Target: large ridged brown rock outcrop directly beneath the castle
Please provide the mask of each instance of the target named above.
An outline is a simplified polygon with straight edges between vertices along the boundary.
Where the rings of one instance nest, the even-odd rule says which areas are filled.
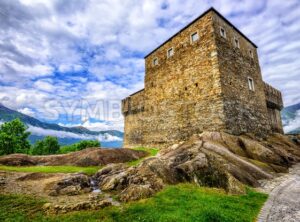
[[[299,160],[299,145],[280,134],[258,140],[251,135],[204,132],[161,150],[136,167],[109,165],[94,180],[101,190],[117,192],[121,201],[146,198],[166,184],[182,182],[240,194],[245,184],[259,186],[259,180],[285,172]]]

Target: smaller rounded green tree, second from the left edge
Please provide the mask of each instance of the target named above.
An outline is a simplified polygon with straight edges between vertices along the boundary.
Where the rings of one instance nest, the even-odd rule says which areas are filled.
[[[43,140],[38,140],[32,149],[33,155],[49,155],[56,154],[60,149],[60,145],[56,137],[47,136]]]

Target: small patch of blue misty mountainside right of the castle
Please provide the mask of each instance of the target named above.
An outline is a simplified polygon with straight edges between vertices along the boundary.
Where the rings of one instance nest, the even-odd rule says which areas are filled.
[[[300,133],[300,103],[285,107],[281,117],[285,133]]]

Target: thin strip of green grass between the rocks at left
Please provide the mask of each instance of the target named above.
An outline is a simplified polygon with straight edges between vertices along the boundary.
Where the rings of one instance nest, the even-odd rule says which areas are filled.
[[[14,172],[33,172],[33,173],[78,173],[82,172],[88,175],[93,175],[101,169],[101,166],[77,167],[77,166],[3,166],[0,165],[0,170]]]

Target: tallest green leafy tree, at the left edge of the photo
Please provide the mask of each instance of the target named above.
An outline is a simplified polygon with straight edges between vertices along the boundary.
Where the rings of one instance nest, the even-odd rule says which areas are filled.
[[[30,143],[26,126],[20,119],[6,122],[0,126],[0,155],[28,153]]]

